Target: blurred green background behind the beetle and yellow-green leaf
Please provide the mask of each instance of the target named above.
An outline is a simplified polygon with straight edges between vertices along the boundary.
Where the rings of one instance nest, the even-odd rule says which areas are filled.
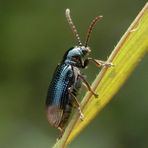
[[[0,148],[51,148],[58,131],[45,116],[55,66],[75,39],[64,13],[85,38],[90,21],[92,57],[105,60],[146,0],[0,0]],[[126,64],[126,63],[125,63]],[[70,148],[148,148],[148,58]],[[99,70],[84,71],[91,82]],[[80,97],[79,97],[80,98]]]

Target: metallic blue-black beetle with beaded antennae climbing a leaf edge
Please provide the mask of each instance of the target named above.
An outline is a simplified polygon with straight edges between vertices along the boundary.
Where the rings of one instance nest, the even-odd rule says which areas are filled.
[[[80,119],[83,120],[84,115],[81,111],[80,104],[77,101],[77,95],[81,85],[84,84],[88,90],[97,97],[98,95],[91,89],[80,69],[86,68],[89,61],[94,62],[98,66],[112,66],[111,63],[92,59],[88,57],[91,52],[87,46],[90,34],[96,22],[102,18],[97,16],[90,24],[86,36],[84,46],[80,41],[79,34],[71,19],[70,10],[66,9],[67,21],[78,41],[78,46],[70,48],[63,56],[60,64],[58,64],[51,83],[48,88],[46,99],[47,119],[49,123],[58,128],[61,132],[64,131],[73,107],[78,109]]]

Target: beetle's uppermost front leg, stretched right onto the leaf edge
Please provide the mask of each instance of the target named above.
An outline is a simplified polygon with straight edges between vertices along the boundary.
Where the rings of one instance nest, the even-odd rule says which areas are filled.
[[[111,62],[101,61],[101,60],[92,59],[92,58],[88,58],[88,60],[94,62],[97,66],[106,66],[106,67],[114,66]]]

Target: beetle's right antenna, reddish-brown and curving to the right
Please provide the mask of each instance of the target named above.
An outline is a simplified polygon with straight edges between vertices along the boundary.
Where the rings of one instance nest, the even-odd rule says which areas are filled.
[[[97,16],[96,18],[94,18],[88,28],[88,31],[87,31],[87,35],[86,35],[86,40],[85,40],[85,44],[84,46],[87,47],[88,45],[88,42],[89,42],[89,39],[90,39],[90,34],[94,28],[94,26],[96,25],[97,21],[99,21],[103,16]]]

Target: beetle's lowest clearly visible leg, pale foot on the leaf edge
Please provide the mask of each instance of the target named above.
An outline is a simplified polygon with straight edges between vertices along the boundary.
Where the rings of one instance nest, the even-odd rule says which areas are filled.
[[[68,92],[69,92],[69,94],[72,96],[72,101],[74,102],[75,106],[76,106],[77,109],[78,109],[80,119],[83,120],[84,115],[83,115],[83,113],[82,113],[82,111],[81,111],[80,104],[79,104],[79,102],[78,102],[76,96],[71,92],[71,88],[68,89]]]

